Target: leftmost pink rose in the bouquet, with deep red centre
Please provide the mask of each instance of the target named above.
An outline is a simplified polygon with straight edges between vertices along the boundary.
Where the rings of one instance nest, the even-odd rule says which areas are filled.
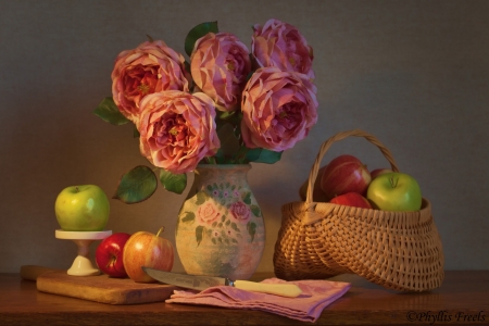
[[[125,117],[137,122],[141,99],[162,90],[188,91],[185,59],[163,41],[121,52],[112,71],[112,96]]]

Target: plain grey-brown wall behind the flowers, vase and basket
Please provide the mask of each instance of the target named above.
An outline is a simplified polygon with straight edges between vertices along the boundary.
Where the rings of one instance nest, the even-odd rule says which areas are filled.
[[[115,57],[147,39],[184,52],[195,25],[218,21],[250,45],[251,26],[275,17],[314,48],[319,121],[274,165],[253,164],[249,183],[265,216],[273,271],[280,206],[323,141],[361,128],[377,136],[432,203],[447,269],[489,269],[489,1],[0,1],[0,272],[23,264],[67,268],[73,242],[54,238],[54,200],[66,186],[109,196],[138,164],[131,128],[91,111],[111,95]],[[335,143],[372,168],[387,165],[363,139]],[[158,231],[174,242],[185,196],[162,187],[148,201],[111,200],[108,228]],[[98,243],[91,247],[92,252]],[[183,272],[176,259],[174,271]]]

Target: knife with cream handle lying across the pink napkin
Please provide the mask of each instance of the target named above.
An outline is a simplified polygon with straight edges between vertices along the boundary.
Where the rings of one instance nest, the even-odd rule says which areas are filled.
[[[216,276],[164,272],[146,266],[142,266],[141,268],[146,274],[161,283],[192,290],[205,290],[206,288],[215,286],[231,286],[241,290],[269,293],[288,298],[296,298],[302,293],[302,290],[293,284],[264,284],[250,280],[230,280],[228,278]]]

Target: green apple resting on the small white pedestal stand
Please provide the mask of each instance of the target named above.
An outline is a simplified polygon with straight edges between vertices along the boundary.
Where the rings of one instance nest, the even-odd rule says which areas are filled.
[[[100,231],[109,221],[110,203],[98,186],[72,186],[58,195],[54,212],[63,230]]]

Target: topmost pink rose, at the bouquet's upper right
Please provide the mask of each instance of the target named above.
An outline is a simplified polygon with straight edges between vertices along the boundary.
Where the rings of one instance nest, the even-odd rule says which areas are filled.
[[[251,52],[260,66],[277,66],[314,78],[313,50],[299,30],[287,23],[269,20],[253,26]]]

